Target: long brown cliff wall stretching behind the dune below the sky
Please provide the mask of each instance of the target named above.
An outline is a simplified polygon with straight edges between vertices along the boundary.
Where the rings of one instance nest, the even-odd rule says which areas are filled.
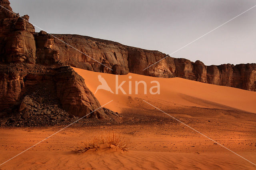
[[[44,39],[45,37],[48,39]],[[60,40],[94,58],[98,62],[108,66],[112,70],[102,66],[88,56],[78,52],[74,48],[64,44],[60,40],[42,33],[35,34],[38,42],[49,44],[64,64],[112,74],[127,74],[132,72],[155,77],[180,77],[199,82],[230,86],[244,90],[256,91],[256,64],[222,64],[220,66],[205,66],[203,62],[191,62],[184,58],[167,57],[162,52],[144,50],[125,46],[117,42],[101,40],[88,36],[54,34]],[[44,39],[44,40],[43,40]],[[37,51],[44,48],[38,46]],[[147,68],[151,64],[153,66]],[[143,71],[144,68],[147,68]]]

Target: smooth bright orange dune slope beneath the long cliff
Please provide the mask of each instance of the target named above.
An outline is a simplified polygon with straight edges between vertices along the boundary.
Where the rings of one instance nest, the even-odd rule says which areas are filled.
[[[100,74],[115,93],[116,75],[91,72],[79,68],[73,69],[85,79],[86,85],[92,92],[95,92],[97,86],[101,84],[98,81],[98,75]],[[144,86],[142,84],[139,84],[138,94],[135,94],[135,81],[141,80],[147,84],[146,95],[144,95]],[[95,96],[99,100],[100,104],[105,104],[110,100],[114,100],[106,107],[114,111],[120,111],[124,107],[132,107],[131,104],[127,103],[128,97],[132,97],[162,102],[175,108],[177,106],[196,106],[228,110],[243,110],[246,112],[256,113],[256,92],[226,86],[205,84],[182,78],[155,78],[132,73],[119,75],[118,84],[122,81],[126,81],[122,86],[126,94],[123,94],[120,90],[118,91],[118,94],[112,94],[106,90],[98,90]],[[132,84],[131,94],[128,94],[129,81],[131,81]],[[152,95],[149,93],[150,87],[156,85],[155,83],[151,84],[151,81],[158,81],[160,83],[160,94]]]

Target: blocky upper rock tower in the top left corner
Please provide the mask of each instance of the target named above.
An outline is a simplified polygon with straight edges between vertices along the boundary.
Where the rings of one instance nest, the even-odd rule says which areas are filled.
[[[12,11],[8,0],[2,0],[0,4]],[[29,16],[24,15],[20,18],[8,10],[0,8],[0,60],[35,63],[35,29],[26,21]]]

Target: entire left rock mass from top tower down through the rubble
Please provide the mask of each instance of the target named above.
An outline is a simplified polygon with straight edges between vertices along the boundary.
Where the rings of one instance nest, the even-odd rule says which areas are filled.
[[[8,0],[0,4],[12,11]],[[50,42],[36,42],[29,17],[6,9],[0,7],[1,124],[59,124],[70,115],[83,117],[96,109],[86,117],[109,120],[110,112],[100,108],[84,79],[60,62]]]

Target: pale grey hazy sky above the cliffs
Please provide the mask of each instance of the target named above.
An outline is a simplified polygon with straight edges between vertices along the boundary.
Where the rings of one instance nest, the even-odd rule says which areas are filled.
[[[255,0],[10,0],[49,33],[80,34],[166,54],[256,5]],[[256,7],[176,52],[206,65],[256,63]],[[36,31],[40,31],[36,29]]]

